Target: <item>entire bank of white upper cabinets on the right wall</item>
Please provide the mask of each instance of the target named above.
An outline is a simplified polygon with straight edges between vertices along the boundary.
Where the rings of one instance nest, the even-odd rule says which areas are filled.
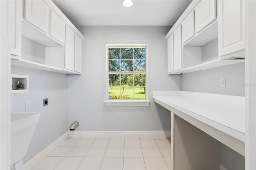
[[[168,73],[190,73],[244,62],[237,59],[244,58],[245,51],[244,3],[193,0],[165,36]]]

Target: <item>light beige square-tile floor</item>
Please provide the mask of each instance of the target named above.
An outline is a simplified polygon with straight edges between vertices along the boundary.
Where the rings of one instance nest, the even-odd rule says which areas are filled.
[[[69,137],[33,170],[170,170],[170,138]]]

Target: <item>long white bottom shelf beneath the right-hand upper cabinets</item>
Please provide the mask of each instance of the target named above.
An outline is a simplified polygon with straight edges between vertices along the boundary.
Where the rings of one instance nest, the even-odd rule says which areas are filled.
[[[177,71],[177,72],[171,72],[170,74],[184,74],[184,73],[190,73],[194,71],[200,71],[200,70],[206,70],[206,69],[212,69],[216,67],[222,67],[225,65],[231,65],[236,63],[242,63],[244,62],[244,59],[214,59],[212,61],[208,61],[199,65],[195,65],[192,67],[185,68],[183,70]]]

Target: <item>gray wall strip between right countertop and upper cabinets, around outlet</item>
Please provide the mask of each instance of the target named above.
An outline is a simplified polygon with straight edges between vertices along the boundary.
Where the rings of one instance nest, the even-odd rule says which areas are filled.
[[[182,75],[182,90],[223,95],[245,95],[245,63],[227,65]],[[226,87],[220,87],[220,77],[226,77]]]

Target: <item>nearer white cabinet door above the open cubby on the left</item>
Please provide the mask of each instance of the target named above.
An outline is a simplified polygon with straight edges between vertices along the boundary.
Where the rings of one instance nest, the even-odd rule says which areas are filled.
[[[49,34],[50,8],[43,0],[25,0],[24,19]]]

